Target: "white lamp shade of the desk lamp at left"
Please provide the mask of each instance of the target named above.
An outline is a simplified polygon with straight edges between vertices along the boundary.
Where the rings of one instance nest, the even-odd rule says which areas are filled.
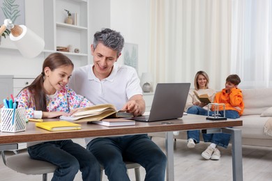
[[[27,58],[34,58],[38,56],[45,47],[45,41],[33,33],[27,26],[20,25],[22,28],[22,34],[20,36],[13,36],[10,34],[10,40],[12,40],[16,47],[19,49],[22,56]]]

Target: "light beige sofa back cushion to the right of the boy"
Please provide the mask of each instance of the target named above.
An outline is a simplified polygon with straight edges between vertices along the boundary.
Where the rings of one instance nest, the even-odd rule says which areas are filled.
[[[245,109],[243,115],[261,115],[272,107],[272,88],[242,89]]]

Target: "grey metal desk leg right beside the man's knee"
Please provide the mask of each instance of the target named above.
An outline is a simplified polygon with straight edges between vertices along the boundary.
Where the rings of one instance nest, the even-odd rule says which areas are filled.
[[[174,137],[173,132],[166,132],[167,181],[174,181]]]

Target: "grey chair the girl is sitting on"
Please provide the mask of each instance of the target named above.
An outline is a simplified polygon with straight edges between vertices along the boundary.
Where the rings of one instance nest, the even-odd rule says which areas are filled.
[[[43,181],[46,181],[47,173],[54,173],[57,168],[50,162],[31,159],[28,152],[18,153],[17,155],[6,157],[4,151],[10,149],[4,148],[4,150],[3,146],[5,145],[0,145],[3,163],[17,173],[24,173],[26,175],[43,175]]]

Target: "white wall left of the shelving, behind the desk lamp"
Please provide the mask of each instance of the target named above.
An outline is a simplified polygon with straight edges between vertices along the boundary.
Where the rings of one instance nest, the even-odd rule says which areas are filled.
[[[24,0],[25,25],[43,37],[43,0]],[[35,7],[35,8],[33,8]],[[3,22],[0,22],[3,23]],[[38,24],[38,26],[36,26]],[[1,45],[14,47],[9,38],[2,38]],[[0,74],[36,76],[40,74],[44,56],[41,54],[36,58],[24,58],[15,49],[2,49],[0,45]]]

